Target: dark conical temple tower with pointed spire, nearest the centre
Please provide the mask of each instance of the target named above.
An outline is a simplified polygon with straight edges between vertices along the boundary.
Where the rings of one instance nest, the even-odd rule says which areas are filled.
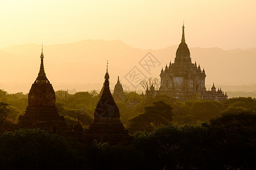
[[[94,111],[94,121],[85,131],[86,144],[91,145],[95,139],[102,143],[108,142],[109,145],[127,143],[132,138],[119,120],[119,109],[109,89],[108,66],[102,88],[101,98]]]

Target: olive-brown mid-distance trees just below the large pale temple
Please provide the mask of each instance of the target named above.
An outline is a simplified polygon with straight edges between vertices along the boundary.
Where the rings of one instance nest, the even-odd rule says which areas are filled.
[[[126,128],[130,133],[138,130],[151,132],[154,128],[167,125],[200,125],[222,113],[256,113],[256,99],[236,97],[221,102],[214,100],[189,100],[180,102],[168,96],[158,96],[160,101],[145,105],[142,101],[134,111],[135,116],[129,118]]]

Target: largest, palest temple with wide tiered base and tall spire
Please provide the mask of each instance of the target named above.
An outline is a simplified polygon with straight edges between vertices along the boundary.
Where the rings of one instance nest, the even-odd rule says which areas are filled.
[[[159,95],[168,95],[181,101],[192,100],[192,96],[214,100],[217,94],[208,92],[205,88],[205,70],[202,71],[196,62],[191,62],[184,28],[183,24],[181,42],[177,48],[174,63],[170,62],[169,67],[166,65],[166,68],[161,70]],[[225,99],[224,95],[222,96],[221,93],[219,95],[221,100]]]

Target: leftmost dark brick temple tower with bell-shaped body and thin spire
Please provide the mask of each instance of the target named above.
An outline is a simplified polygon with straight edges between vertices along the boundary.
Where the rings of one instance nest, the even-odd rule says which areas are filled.
[[[32,84],[28,94],[28,106],[24,116],[19,116],[19,128],[40,128],[48,133],[64,134],[67,125],[63,116],[60,116],[55,106],[56,98],[52,84],[44,72],[43,47],[41,53],[41,65],[38,77]]]

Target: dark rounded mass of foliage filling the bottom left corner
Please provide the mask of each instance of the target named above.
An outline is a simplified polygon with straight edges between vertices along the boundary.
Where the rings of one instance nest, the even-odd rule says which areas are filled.
[[[82,152],[40,129],[5,132],[0,138],[0,169],[86,168]]]

